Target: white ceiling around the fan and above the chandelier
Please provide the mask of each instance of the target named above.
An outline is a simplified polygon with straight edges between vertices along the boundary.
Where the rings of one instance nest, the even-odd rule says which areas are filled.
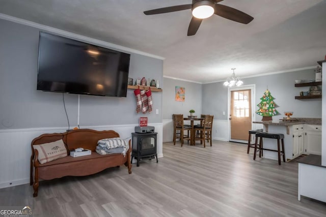
[[[0,0],[0,13],[162,56],[164,76],[200,83],[314,67],[326,54],[326,0],[225,0],[254,17],[213,15],[187,36],[191,10],[143,11],[191,0]]]

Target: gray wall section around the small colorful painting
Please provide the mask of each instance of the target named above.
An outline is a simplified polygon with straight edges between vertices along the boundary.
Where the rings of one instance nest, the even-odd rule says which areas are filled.
[[[163,119],[172,119],[172,114],[189,115],[189,110],[194,109],[195,115],[202,113],[202,85],[187,81],[164,78],[163,91]],[[175,87],[185,87],[184,102],[175,101]]]

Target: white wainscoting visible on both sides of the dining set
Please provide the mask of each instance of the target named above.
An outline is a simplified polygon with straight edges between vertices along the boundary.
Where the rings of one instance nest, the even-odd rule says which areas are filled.
[[[213,120],[212,138],[214,140],[229,141],[229,129],[227,120]],[[163,142],[173,141],[173,121],[172,119],[163,120]]]

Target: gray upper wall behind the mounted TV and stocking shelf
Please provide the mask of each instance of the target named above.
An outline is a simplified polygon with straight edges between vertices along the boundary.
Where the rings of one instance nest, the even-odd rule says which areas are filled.
[[[65,127],[63,95],[36,90],[39,30],[0,19],[0,129]],[[129,77],[162,80],[163,61],[131,53]],[[161,85],[162,86],[162,85]],[[77,95],[64,94],[70,126],[77,124]],[[102,126],[162,122],[162,93],[152,92],[151,114],[135,113],[133,90],[126,98],[80,96],[80,125]]]

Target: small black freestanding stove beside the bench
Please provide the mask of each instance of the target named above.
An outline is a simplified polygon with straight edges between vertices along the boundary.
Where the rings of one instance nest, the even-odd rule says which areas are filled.
[[[156,140],[157,133],[131,133],[132,135],[132,151],[131,151],[131,163],[132,159],[137,160],[137,166],[139,162],[143,160],[152,160],[156,157]]]

